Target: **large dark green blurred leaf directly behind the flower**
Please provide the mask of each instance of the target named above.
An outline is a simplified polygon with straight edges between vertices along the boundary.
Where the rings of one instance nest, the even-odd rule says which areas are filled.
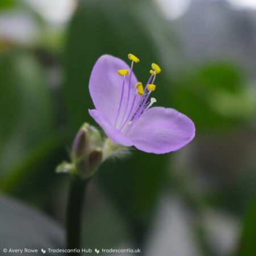
[[[150,3],[143,6],[138,1],[90,0],[80,3],[69,26],[65,50],[65,97],[74,136],[81,123],[94,122],[88,114],[88,109],[93,108],[88,82],[98,57],[108,53],[129,63],[127,54],[134,53],[141,59],[135,65],[135,73],[143,82],[150,75],[151,63],[159,63],[150,30],[145,30],[139,15],[134,15],[134,10],[138,14],[146,11]],[[156,80],[161,89],[155,91],[154,97],[164,105],[169,102],[167,89],[170,84],[162,74]],[[167,158],[168,155],[134,151],[130,158],[105,163],[101,168],[101,184],[129,218],[138,242],[142,240],[161,188]]]

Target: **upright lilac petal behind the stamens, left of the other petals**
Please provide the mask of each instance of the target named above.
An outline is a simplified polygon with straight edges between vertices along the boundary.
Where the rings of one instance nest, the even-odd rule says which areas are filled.
[[[104,113],[112,125],[114,125],[115,118],[117,116],[123,83],[123,77],[119,76],[117,73],[118,69],[127,69],[130,71],[130,67],[125,63],[125,61],[111,55],[102,55],[94,65],[89,81],[90,96],[92,97],[95,108]],[[125,112],[129,76],[130,74],[126,76],[124,101],[119,114],[118,125],[120,124],[123,113]],[[137,78],[133,73],[131,76],[131,94],[127,114],[129,112],[133,96],[136,93],[135,85],[137,82]]]

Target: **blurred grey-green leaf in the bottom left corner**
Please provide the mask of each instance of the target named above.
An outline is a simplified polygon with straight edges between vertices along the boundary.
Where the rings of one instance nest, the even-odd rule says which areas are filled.
[[[0,208],[1,250],[64,248],[63,229],[42,213],[2,196]]]

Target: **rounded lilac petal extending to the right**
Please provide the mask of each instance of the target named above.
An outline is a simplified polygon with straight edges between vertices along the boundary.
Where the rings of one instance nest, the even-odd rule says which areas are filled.
[[[127,133],[139,150],[164,154],[178,150],[195,137],[195,125],[175,109],[149,109]]]

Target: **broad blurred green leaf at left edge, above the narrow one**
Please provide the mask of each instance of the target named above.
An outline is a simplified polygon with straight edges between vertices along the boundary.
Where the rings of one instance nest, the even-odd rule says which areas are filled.
[[[53,127],[45,75],[28,52],[14,50],[0,58],[1,176],[34,148]]]

